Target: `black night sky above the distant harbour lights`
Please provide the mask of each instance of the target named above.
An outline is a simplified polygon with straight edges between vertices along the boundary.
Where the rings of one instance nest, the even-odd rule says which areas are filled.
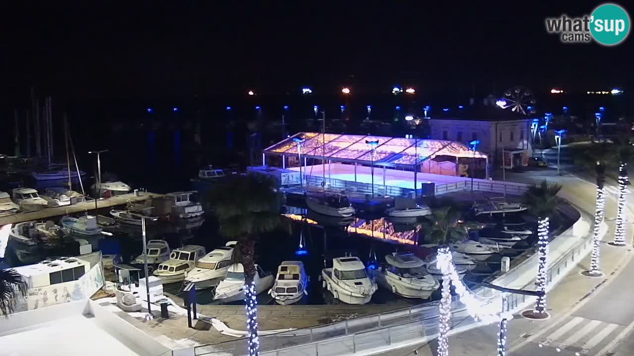
[[[303,84],[335,93],[348,83],[368,92],[395,83],[585,91],[625,87],[633,63],[631,35],[605,48],[546,33],[545,17],[588,14],[597,1],[12,3],[20,8],[1,8],[8,98],[27,99],[29,86],[70,100]]]

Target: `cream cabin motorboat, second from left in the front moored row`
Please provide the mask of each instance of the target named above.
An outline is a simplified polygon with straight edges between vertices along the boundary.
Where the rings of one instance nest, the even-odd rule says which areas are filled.
[[[198,245],[185,245],[172,250],[169,260],[163,262],[154,271],[163,283],[182,282],[187,272],[194,269],[198,258],[205,255],[205,248]]]

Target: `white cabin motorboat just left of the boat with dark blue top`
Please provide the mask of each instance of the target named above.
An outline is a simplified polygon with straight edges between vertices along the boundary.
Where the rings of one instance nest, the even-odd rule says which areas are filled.
[[[368,303],[377,291],[377,283],[368,277],[358,257],[333,258],[332,268],[321,270],[321,279],[335,299],[348,304]]]

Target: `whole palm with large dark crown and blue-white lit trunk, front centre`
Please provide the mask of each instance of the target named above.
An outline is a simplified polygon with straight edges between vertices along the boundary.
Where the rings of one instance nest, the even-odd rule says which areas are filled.
[[[207,198],[226,238],[236,239],[245,274],[245,304],[249,355],[259,354],[254,276],[256,240],[262,234],[285,229],[290,222],[280,214],[283,195],[266,177],[235,175],[218,182]]]

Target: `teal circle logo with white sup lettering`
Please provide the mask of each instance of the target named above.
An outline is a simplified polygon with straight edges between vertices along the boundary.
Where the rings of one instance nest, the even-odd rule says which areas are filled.
[[[621,6],[602,4],[590,16],[590,32],[600,44],[614,46],[628,37],[630,16]]]

